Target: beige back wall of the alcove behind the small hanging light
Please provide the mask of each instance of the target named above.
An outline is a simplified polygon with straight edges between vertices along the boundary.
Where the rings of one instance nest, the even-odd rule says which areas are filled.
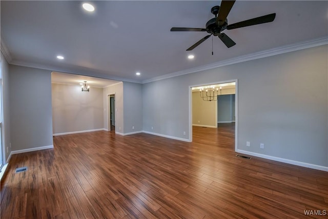
[[[53,133],[87,131],[104,128],[103,88],[52,84]]]

